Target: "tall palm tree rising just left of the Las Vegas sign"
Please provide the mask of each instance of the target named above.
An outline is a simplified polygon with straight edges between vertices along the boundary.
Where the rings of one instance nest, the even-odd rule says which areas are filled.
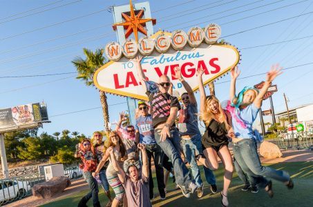
[[[93,74],[106,62],[106,59],[103,56],[104,50],[97,49],[95,52],[92,52],[91,50],[83,48],[83,51],[86,59],[83,59],[82,57],[75,57],[72,61],[78,73],[77,79],[84,81],[86,86],[95,86],[93,83]],[[106,102],[106,94],[102,90],[99,90],[99,93],[104,117],[104,129],[109,130],[108,103]]]

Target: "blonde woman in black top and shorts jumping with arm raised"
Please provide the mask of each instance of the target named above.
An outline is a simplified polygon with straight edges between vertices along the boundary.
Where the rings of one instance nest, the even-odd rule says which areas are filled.
[[[233,161],[228,149],[229,137],[232,132],[230,115],[220,106],[220,101],[214,96],[206,97],[205,88],[202,82],[204,70],[198,70],[198,81],[200,91],[200,119],[205,122],[206,130],[202,137],[202,145],[208,168],[218,169],[218,157],[225,168],[224,186],[220,192],[222,206],[228,206],[227,191],[234,171]]]

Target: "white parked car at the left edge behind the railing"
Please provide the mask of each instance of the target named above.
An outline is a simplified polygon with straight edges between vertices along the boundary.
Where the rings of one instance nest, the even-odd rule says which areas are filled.
[[[28,181],[1,180],[0,201],[24,197],[28,190],[30,190]]]

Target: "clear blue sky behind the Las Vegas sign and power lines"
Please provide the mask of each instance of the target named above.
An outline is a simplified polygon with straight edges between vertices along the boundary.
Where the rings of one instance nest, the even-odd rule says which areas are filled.
[[[109,41],[116,41],[111,27],[113,15],[107,8],[128,4],[129,1],[0,0],[0,3],[0,77],[7,77],[75,72],[70,61],[83,55],[82,48],[95,50],[103,48]],[[290,68],[312,62],[313,38],[299,39],[313,35],[312,0],[172,0],[150,1],[150,6],[152,17],[157,19],[155,31],[159,28],[168,31],[182,28],[187,32],[192,26],[218,23],[222,37],[240,32],[225,37],[227,42],[238,48],[287,41],[241,49],[240,77],[267,72],[272,63]],[[25,12],[28,10],[31,11]],[[282,21],[290,17],[295,18]],[[276,21],[281,22],[274,23]],[[267,24],[269,26],[265,26]],[[249,30],[256,27],[260,28]],[[249,31],[242,32],[245,30]],[[289,41],[291,39],[298,40]],[[278,92],[273,95],[275,111],[285,110],[284,92],[290,99],[291,108],[312,103],[312,77],[313,64],[285,70],[274,81],[278,86]],[[237,89],[259,83],[264,78],[265,75],[258,75],[238,80]],[[216,95],[220,100],[228,97],[229,82],[225,81],[229,81],[229,75],[216,81]],[[45,124],[39,132],[51,134],[68,129],[91,135],[95,130],[102,130],[104,125],[102,109],[98,108],[101,106],[99,92],[75,79],[75,73],[0,78],[0,95],[0,108],[44,100],[51,123]],[[117,119],[121,110],[127,110],[125,102],[124,97],[108,95],[108,104],[113,105],[109,107],[111,121]],[[96,109],[86,110],[90,108]],[[269,100],[263,103],[263,110],[267,109]],[[85,111],[75,112],[79,110]],[[68,112],[74,113],[66,114]],[[270,117],[265,117],[265,121],[270,120]]]

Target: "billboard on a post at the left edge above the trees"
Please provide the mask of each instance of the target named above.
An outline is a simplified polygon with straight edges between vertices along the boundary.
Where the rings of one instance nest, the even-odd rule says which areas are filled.
[[[48,117],[41,117],[41,111],[39,103],[0,109],[0,129],[41,122],[42,118],[47,120]]]

